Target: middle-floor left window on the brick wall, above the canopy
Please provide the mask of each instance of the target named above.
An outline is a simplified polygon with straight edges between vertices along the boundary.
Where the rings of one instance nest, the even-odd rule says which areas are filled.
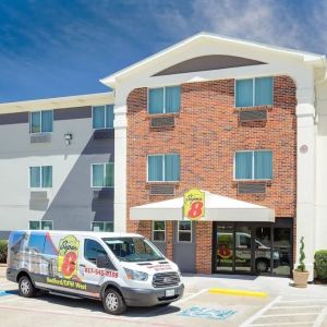
[[[152,155],[147,157],[149,182],[177,182],[180,180],[180,155]]]

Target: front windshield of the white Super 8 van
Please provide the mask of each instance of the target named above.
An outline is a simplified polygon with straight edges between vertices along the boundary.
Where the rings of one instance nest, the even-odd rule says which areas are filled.
[[[104,242],[122,262],[154,262],[165,259],[162,254],[143,238],[105,238]]]

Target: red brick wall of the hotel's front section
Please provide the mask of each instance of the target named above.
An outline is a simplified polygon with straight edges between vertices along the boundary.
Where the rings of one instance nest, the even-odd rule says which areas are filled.
[[[192,186],[276,210],[277,217],[295,217],[296,118],[295,85],[288,76],[274,78],[274,106],[267,121],[241,123],[234,108],[234,80],[182,84],[181,111],[175,126],[152,129],[147,88],[128,98],[128,230],[152,235],[150,221],[131,221],[130,207],[171,198],[150,196],[146,183],[147,155],[179,153],[181,180],[175,195]],[[239,195],[233,181],[235,150],[271,149],[274,179],[266,194]],[[278,218],[277,218],[278,219]],[[222,219],[223,220],[223,219]],[[196,229],[196,270],[211,272],[211,222]],[[172,258],[172,223],[167,225],[167,255]]]

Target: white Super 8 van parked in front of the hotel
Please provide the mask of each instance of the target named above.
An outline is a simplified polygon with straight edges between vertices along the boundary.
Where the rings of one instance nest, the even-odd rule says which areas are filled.
[[[178,266],[132,233],[13,231],[7,278],[22,296],[37,289],[102,301],[109,314],[128,306],[167,305],[182,298]]]

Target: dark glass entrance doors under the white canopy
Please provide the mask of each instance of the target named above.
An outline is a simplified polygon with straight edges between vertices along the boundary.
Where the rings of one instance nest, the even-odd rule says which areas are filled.
[[[290,276],[292,265],[292,219],[214,223],[214,272]]]

